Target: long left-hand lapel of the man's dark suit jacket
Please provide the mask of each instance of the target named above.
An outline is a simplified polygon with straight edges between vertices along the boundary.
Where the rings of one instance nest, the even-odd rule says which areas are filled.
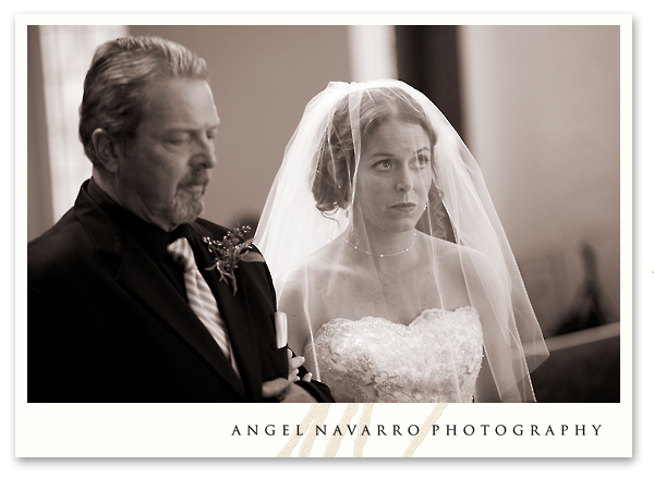
[[[75,208],[76,216],[92,236],[98,254],[110,254],[118,258],[118,283],[170,324],[245,399],[245,389],[230,361],[184,297],[149,256],[132,237],[122,233],[84,188]]]

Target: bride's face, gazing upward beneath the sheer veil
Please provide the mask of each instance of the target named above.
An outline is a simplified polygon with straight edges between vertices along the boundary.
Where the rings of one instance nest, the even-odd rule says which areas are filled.
[[[368,232],[415,228],[432,184],[432,145],[419,124],[390,120],[367,138],[356,172],[354,210]]]

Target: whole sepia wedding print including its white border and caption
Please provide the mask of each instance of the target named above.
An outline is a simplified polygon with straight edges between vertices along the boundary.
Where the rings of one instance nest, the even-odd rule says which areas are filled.
[[[46,19],[16,49],[23,456],[75,456],[47,439],[82,409],[229,443],[107,456],[630,453],[629,15]]]

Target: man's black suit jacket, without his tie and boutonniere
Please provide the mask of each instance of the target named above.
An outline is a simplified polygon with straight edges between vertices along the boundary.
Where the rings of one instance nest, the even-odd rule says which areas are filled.
[[[210,333],[144,249],[82,186],[74,207],[28,244],[28,402],[261,402],[262,383],[288,376],[277,348],[275,291],[263,262],[239,262],[238,293],[204,273],[226,322],[241,379]],[[198,269],[198,219],[189,238]],[[195,244],[194,244],[195,243]],[[199,256],[199,257],[198,257]],[[319,382],[299,382],[334,401]]]

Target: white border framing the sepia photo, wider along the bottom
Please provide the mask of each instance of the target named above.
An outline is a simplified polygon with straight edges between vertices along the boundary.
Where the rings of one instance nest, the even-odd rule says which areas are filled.
[[[26,400],[27,26],[619,25],[620,403],[41,404]],[[16,15],[15,455],[19,457],[632,456],[632,17],[629,14]],[[312,433],[315,427],[327,432]],[[348,425],[350,428],[348,428]],[[351,433],[368,425],[370,434]],[[379,433],[379,425],[384,431]],[[268,431],[266,431],[268,427]],[[313,427],[313,428],[312,428]],[[395,430],[398,433],[393,433]],[[472,427],[472,428],[467,428]],[[501,433],[504,427],[504,433]],[[535,433],[534,433],[535,427]],[[251,434],[247,430],[252,429]],[[256,433],[254,430],[256,429]],[[337,432],[336,430],[339,430]],[[293,432],[295,430],[295,433]],[[298,434],[296,431],[304,431]],[[417,431],[416,431],[417,430]],[[518,431],[521,430],[521,433]],[[470,432],[470,433],[469,433]],[[312,438],[313,437],[313,438]]]

